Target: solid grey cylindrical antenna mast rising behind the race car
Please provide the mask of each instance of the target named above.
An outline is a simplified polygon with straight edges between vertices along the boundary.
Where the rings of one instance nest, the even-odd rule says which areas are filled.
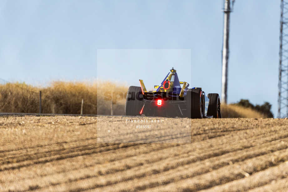
[[[228,59],[229,59],[229,22],[230,13],[233,11],[235,0],[222,0],[222,11],[224,12],[223,26],[223,48],[222,48],[222,89],[221,103],[227,103],[227,84],[228,84]]]

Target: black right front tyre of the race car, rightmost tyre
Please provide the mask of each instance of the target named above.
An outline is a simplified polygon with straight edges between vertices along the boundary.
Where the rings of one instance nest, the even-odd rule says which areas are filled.
[[[219,94],[209,93],[207,97],[209,98],[207,115],[213,115],[213,118],[222,118]]]

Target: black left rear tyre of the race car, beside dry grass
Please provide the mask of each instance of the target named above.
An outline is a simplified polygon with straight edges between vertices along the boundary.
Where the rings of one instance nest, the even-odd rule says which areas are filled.
[[[141,115],[141,100],[143,100],[143,94],[141,87],[130,86],[127,91],[125,114],[129,116]]]

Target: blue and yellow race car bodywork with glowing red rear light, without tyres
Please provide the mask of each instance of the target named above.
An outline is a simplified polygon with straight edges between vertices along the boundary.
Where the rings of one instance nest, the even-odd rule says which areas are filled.
[[[143,80],[139,79],[141,94],[138,100],[141,102],[139,115],[160,116],[160,117],[187,117],[187,92],[189,83],[179,81],[174,68],[166,75],[160,85],[155,85],[156,91],[147,91]],[[181,87],[182,85],[182,87]],[[211,118],[207,115],[209,98],[201,88],[191,88],[201,90],[201,113],[203,118]],[[129,99],[129,98],[128,98]],[[139,108],[140,109],[140,108]],[[138,109],[138,110],[139,110]]]

